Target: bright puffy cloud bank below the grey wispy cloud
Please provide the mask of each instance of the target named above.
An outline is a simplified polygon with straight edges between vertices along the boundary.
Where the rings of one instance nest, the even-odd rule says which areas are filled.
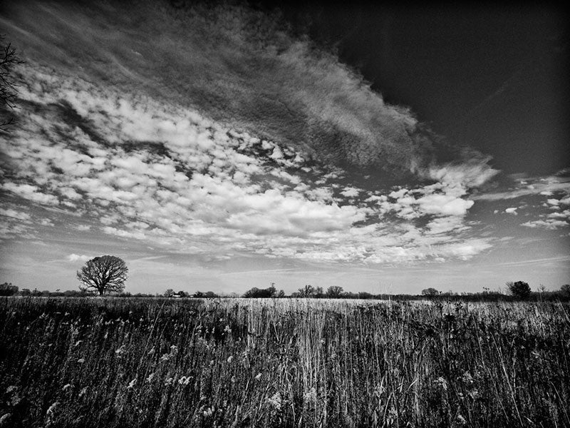
[[[28,85],[22,95],[33,108],[24,104],[6,140],[13,178],[4,188],[53,215],[81,216],[76,230],[213,258],[321,263],[463,259],[476,253],[464,245],[487,248],[462,235],[477,183],[457,168],[430,185],[371,192],[298,148],[192,109],[38,66],[23,73],[41,91]],[[402,229],[409,219],[425,222]]]

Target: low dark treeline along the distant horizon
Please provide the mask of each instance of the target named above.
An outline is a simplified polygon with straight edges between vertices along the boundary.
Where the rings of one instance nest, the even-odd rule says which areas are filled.
[[[19,290],[15,285],[11,283],[4,282],[0,284],[0,296],[24,296],[24,297],[90,297],[93,294],[86,291],[80,290],[65,290],[65,291],[48,291],[48,290],[29,290],[28,288],[23,288]],[[422,291],[421,294],[388,294],[380,293],[373,294],[370,292],[347,292],[344,291],[342,287],[332,286],[328,287],[326,292],[323,292],[321,287],[312,287],[311,285],[300,288],[298,291],[291,293],[291,295],[286,295],[283,290],[276,290],[276,288],[271,285],[269,288],[257,288],[254,287],[247,290],[243,295],[232,294],[232,295],[219,295],[213,291],[201,292],[197,291],[194,293],[173,290],[166,290],[163,293],[130,293],[121,292],[115,293],[110,296],[113,297],[142,297],[142,298],[157,298],[157,297],[169,297],[174,299],[180,298],[203,298],[203,299],[213,299],[213,298],[227,298],[227,297],[244,297],[244,298],[313,298],[313,299],[370,299],[370,300],[442,300],[442,301],[458,301],[463,302],[512,302],[515,300],[529,300],[529,301],[570,301],[570,287],[565,285],[557,291],[541,291],[541,292],[531,292],[530,295],[522,299],[520,296],[512,295],[512,293],[502,293],[502,292],[439,292],[433,288],[428,288]]]

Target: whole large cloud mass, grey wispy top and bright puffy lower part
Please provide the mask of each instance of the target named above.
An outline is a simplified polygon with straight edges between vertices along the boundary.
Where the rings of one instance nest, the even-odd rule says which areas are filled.
[[[492,245],[465,223],[472,190],[497,174],[488,158],[437,163],[407,109],[309,42],[250,29],[257,12],[219,6],[212,24],[200,6],[181,35],[161,9],[144,31],[128,20],[110,35],[98,6],[45,5],[46,22],[31,19],[37,7],[14,18],[43,36],[24,37],[34,59],[20,68],[21,127],[2,149],[16,203],[81,217],[73,228],[90,235],[215,260],[467,260]],[[157,29],[165,37],[147,40]],[[362,166],[416,180],[380,188],[380,173],[354,180]]]

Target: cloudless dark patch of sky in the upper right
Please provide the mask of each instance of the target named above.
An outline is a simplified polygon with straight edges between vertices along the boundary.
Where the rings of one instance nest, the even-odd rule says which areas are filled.
[[[547,6],[274,4],[388,103],[505,173],[570,166],[569,16]],[[517,153],[517,158],[513,157]]]

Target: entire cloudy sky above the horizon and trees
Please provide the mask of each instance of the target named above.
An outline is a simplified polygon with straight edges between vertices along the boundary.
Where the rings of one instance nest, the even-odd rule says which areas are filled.
[[[0,281],[129,292],[570,283],[554,6],[16,1]]]

